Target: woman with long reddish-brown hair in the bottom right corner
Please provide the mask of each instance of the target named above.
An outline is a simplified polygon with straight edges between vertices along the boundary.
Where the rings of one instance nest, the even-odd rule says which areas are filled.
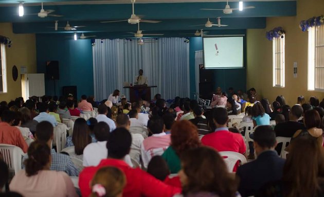
[[[311,135],[291,142],[282,178],[264,185],[256,197],[323,196],[324,150]]]

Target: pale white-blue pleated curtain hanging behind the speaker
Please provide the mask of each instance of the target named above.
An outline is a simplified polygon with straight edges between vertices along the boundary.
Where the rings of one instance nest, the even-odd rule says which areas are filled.
[[[138,70],[148,77],[151,97],[189,96],[189,44],[184,38],[159,38],[138,45],[137,40],[96,40],[93,47],[94,90],[98,101],[115,89],[129,99],[123,82],[134,83]],[[101,43],[102,42],[102,43]]]

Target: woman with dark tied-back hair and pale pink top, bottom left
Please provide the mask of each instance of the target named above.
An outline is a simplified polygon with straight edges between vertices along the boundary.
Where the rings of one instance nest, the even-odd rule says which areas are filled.
[[[28,148],[25,170],[12,179],[10,191],[22,193],[25,197],[78,196],[73,182],[65,172],[50,169],[51,154],[46,143],[33,142]]]

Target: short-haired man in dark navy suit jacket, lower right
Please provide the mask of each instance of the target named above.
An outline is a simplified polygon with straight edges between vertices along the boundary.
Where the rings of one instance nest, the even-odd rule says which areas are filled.
[[[276,145],[276,134],[271,126],[256,128],[254,148],[258,157],[255,161],[240,166],[236,173],[242,197],[255,195],[264,184],[281,179],[285,160],[278,156]]]

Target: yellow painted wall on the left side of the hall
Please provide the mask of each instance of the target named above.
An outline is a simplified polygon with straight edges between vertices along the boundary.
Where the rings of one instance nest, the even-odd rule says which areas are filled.
[[[12,46],[6,47],[8,92],[0,94],[0,101],[9,102],[22,95],[20,67],[25,66],[27,73],[37,73],[35,34],[14,34],[11,23],[0,23],[0,35],[12,41]],[[18,68],[16,81],[12,79],[13,65]]]

